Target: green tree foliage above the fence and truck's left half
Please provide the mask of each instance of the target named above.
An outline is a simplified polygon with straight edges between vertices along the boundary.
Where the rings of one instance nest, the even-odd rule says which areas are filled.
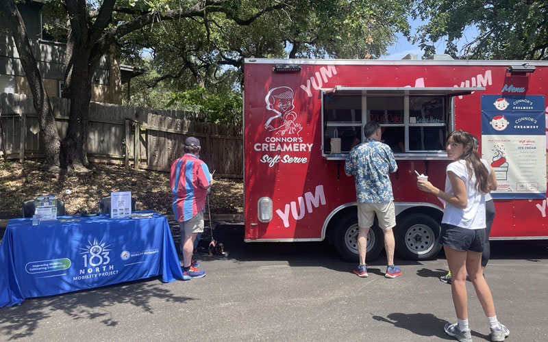
[[[142,76],[147,81],[132,81],[132,101],[192,107],[215,122],[239,122],[245,57],[379,57],[395,32],[409,30],[408,1],[139,0],[156,10],[201,6],[203,15],[162,20],[120,41],[126,64],[150,70]],[[151,54],[140,54],[143,48]]]

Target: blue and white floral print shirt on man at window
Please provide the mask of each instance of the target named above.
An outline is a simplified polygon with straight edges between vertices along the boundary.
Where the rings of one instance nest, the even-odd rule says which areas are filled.
[[[389,172],[398,169],[390,147],[373,138],[354,146],[345,163],[345,172],[356,181],[359,203],[384,203],[394,200]]]

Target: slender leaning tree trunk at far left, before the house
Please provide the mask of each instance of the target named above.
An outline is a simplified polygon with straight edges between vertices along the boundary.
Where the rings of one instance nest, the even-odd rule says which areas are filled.
[[[32,53],[27,28],[13,0],[1,0],[0,10],[8,17],[8,25],[12,31],[19,59],[32,92],[32,102],[36,114],[38,114],[40,131],[45,144],[45,163],[48,166],[59,166],[59,133],[55,125],[51,103],[49,103],[49,97],[42,82],[42,76],[38,71],[36,58]]]

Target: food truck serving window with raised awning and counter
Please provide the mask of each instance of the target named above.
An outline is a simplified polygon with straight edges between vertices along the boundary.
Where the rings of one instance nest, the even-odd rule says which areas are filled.
[[[453,130],[453,96],[484,89],[337,86],[324,90],[323,155],[345,157],[365,140],[364,125],[375,121],[396,157],[444,157],[445,137]],[[334,137],[340,138],[340,152],[338,145],[332,151]]]

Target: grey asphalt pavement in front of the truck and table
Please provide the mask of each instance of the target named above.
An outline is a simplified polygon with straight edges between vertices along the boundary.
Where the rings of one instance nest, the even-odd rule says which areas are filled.
[[[243,226],[217,224],[228,257],[197,254],[205,278],[158,278],[30,298],[0,308],[1,341],[455,341],[447,265],[368,261],[369,278],[351,273],[327,243],[246,244]],[[174,239],[178,237],[174,234]],[[206,237],[207,239],[207,237]],[[548,341],[548,242],[494,241],[486,278],[507,341]],[[489,326],[468,282],[473,341]]]

